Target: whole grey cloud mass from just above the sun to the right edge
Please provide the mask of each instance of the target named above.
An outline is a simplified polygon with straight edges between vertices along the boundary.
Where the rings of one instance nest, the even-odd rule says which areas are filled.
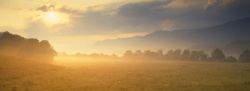
[[[235,0],[231,3],[225,3],[226,0],[213,0],[213,3],[208,3],[209,0],[199,0],[198,3],[194,3],[194,0],[182,0],[184,3],[173,4],[174,1],[176,0],[128,3],[118,8],[98,11],[93,9],[95,7],[87,11],[58,7],[56,11],[71,14],[72,26],[60,30],[61,34],[71,36],[105,35],[117,30],[121,33],[135,33],[201,28],[250,16],[249,0]],[[185,3],[189,5],[180,7]],[[176,4],[180,4],[178,8],[174,7]],[[49,7],[55,6],[43,5],[37,10],[46,12]]]

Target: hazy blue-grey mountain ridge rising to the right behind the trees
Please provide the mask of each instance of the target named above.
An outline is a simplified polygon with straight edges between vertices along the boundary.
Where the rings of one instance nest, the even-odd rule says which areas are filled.
[[[95,47],[107,49],[208,49],[235,41],[250,41],[250,17],[208,28],[156,31],[146,36],[104,40]],[[210,48],[208,48],[210,47]]]

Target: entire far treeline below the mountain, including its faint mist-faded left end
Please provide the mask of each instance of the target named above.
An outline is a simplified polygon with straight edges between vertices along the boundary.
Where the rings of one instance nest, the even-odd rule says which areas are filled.
[[[127,50],[121,57],[116,54],[106,55],[106,54],[82,54],[76,53],[69,55],[65,52],[58,53],[58,56],[64,57],[81,57],[81,58],[93,58],[93,59],[131,59],[131,60],[185,60],[185,61],[223,61],[223,62],[250,62],[250,50],[244,50],[238,58],[234,56],[226,56],[222,50],[216,48],[210,55],[206,54],[204,51],[190,51],[188,49],[181,50],[169,50],[167,53],[163,53],[163,50],[158,50],[156,52],[150,50]]]

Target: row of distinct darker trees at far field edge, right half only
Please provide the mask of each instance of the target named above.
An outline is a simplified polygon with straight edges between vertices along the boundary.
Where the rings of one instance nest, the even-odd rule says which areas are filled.
[[[234,56],[226,56],[222,50],[216,48],[211,52],[211,55],[206,54],[204,51],[190,51],[188,49],[169,50],[163,53],[163,50],[156,52],[146,50],[136,50],[135,52],[127,50],[123,58],[137,59],[137,60],[192,60],[192,61],[225,61],[225,62],[250,62],[250,50],[246,49],[240,54],[239,58]]]

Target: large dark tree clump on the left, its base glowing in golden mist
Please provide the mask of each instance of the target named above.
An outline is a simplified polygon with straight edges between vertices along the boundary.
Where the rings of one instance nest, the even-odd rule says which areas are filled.
[[[0,32],[0,55],[52,61],[56,52],[47,40],[25,39],[6,31]]]

